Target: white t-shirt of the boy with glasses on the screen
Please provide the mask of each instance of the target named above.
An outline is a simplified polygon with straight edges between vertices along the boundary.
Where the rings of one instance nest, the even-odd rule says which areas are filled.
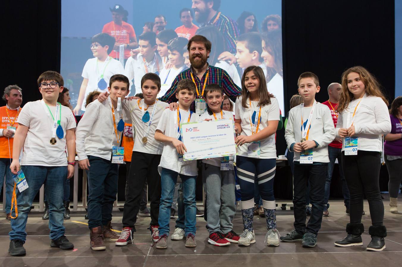
[[[103,72],[103,69],[105,69],[105,72]],[[115,74],[124,74],[124,68],[121,65],[120,61],[117,61],[116,59],[113,59],[111,57],[109,57],[109,60],[105,62],[98,61],[97,57],[88,59],[84,65],[84,69],[82,70],[81,75],[83,78],[88,79],[84,101],[87,95],[92,91],[107,91],[107,87],[104,90],[100,90],[98,88],[98,82],[102,73],[103,79],[105,80],[107,87],[109,87],[110,77]],[[85,105],[82,105],[81,110],[85,111]]]

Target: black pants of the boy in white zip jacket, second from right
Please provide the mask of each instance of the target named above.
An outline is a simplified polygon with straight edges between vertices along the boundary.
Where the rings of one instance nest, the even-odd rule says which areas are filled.
[[[293,173],[293,214],[295,230],[318,234],[324,211],[324,189],[328,164],[295,164]],[[306,189],[310,183],[311,216],[306,226]]]

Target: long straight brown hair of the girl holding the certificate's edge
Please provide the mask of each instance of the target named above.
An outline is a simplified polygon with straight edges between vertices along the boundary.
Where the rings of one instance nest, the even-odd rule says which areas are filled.
[[[250,97],[250,93],[248,93],[246,85],[244,85],[244,79],[246,78],[247,73],[249,73],[250,71],[254,73],[254,75],[258,79],[258,82],[260,83],[260,87],[258,88],[258,97],[260,98],[260,100],[258,101],[258,107],[271,104],[271,97],[273,97],[274,95],[268,93],[267,81],[265,81],[263,69],[258,66],[250,66],[244,70],[242,76],[242,107],[248,108],[247,98]]]

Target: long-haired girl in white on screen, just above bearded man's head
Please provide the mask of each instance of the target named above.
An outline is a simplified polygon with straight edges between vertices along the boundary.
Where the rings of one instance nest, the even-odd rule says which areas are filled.
[[[226,61],[218,60],[219,55],[225,51],[224,37],[222,36],[222,33],[219,32],[218,28],[215,26],[201,27],[197,32],[195,32],[195,34],[205,36],[205,38],[210,40],[213,44],[211,47],[211,53],[209,53],[209,65],[224,69],[232,78],[234,83],[238,87],[241,87],[240,76],[236,66],[234,64],[229,65]]]

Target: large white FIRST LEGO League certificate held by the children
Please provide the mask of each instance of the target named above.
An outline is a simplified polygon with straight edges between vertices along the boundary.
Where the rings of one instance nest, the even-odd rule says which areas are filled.
[[[185,161],[236,155],[232,119],[183,123],[181,136],[187,148]]]

